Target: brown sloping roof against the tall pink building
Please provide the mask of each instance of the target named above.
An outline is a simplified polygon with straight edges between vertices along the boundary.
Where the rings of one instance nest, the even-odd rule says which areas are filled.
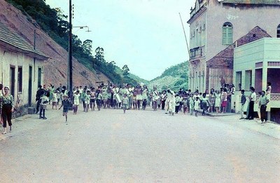
[[[240,39],[237,39],[234,43],[232,43],[228,48],[222,50],[216,56],[212,57],[210,60],[207,61],[207,67],[211,69],[217,68],[228,68],[233,69],[233,55],[235,46],[242,46],[246,43],[251,43],[252,41],[256,41],[258,39],[262,39],[264,37],[271,37],[267,32],[256,26],[251,29],[248,34],[242,36]]]

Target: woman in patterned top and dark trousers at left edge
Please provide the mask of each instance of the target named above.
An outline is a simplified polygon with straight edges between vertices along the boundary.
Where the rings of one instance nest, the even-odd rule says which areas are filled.
[[[4,87],[4,94],[1,96],[1,116],[3,118],[3,133],[6,134],[6,128],[7,128],[7,121],[8,126],[10,126],[10,133],[12,132],[12,113],[14,111],[15,105],[14,105],[13,95],[10,95],[10,88],[8,86]]]

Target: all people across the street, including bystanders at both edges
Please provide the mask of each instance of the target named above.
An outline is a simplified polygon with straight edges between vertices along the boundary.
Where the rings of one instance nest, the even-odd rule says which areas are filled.
[[[239,87],[240,88],[240,87]],[[3,89],[3,91],[2,91]],[[8,86],[3,88],[0,84],[0,111],[1,120],[3,123],[3,134],[6,134],[7,122],[12,130],[11,116],[15,109],[13,96],[10,95]],[[247,111],[246,119],[253,119],[254,103],[256,100],[255,88],[251,87],[251,95],[244,95],[244,90],[241,90],[241,118],[244,118],[244,111]],[[271,83],[267,83],[267,90],[260,93],[260,118],[261,121],[267,121],[266,106],[269,102],[271,93]],[[149,90],[148,86],[137,84],[116,85],[101,83],[97,88],[93,86],[77,86],[73,90],[67,90],[62,83],[56,88],[54,85],[38,86],[36,92],[36,114],[39,113],[39,118],[46,119],[45,110],[47,104],[51,104],[52,109],[61,109],[63,107],[63,116],[67,121],[69,109],[73,109],[73,114],[77,114],[78,107],[83,107],[83,111],[94,111],[101,109],[123,109],[126,110],[145,110],[147,106],[151,106],[154,111],[158,109],[166,110],[166,114],[174,115],[179,112],[183,114],[189,113],[197,116],[198,110],[202,109],[202,115],[209,113],[225,113],[232,95],[235,95],[235,86],[225,84],[219,90],[205,90],[200,93],[198,90],[180,89],[176,92],[168,88],[167,90],[158,91],[156,86]],[[248,101],[248,109],[244,109],[244,104]],[[59,107],[60,105],[60,107]]]

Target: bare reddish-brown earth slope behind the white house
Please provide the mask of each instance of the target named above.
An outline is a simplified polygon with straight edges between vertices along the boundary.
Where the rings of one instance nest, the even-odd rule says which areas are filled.
[[[48,34],[38,27],[35,20],[26,17],[20,10],[0,0],[0,22],[6,25],[10,30],[20,34],[31,45],[34,44],[34,30],[36,29],[36,48],[40,49],[51,57],[45,61],[43,74],[44,83],[53,83],[58,86],[59,83],[66,85],[67,82],[67,64],[68,51],[64,50]],[[29,20],[31,21],[29,21]],[[94,74],[78,60],[73,58],[73,86],[89,86],[99,81],[108,81],[109,79],[102,73]]]

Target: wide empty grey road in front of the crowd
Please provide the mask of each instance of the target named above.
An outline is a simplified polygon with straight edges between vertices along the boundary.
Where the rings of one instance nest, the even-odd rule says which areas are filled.
[[[164,111],[24,116],[0,135],[0,182],[279,182],[280,141],[213,118]],[[255,123],[255,122],[252,122]],[[259,128],[262,128],[260,126]]]

